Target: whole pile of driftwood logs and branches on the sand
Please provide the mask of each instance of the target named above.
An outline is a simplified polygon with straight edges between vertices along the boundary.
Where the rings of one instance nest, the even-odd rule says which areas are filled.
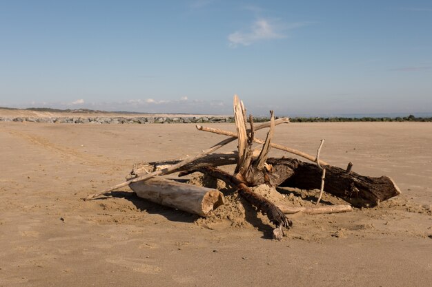
[[[281,239],[284,228],[290,228],[291,220],[286,214],[303,213],[335,213],[351,211],[351,205],[288,207],[277,206],[262,195],[255,193],[251,187],[267,184],[269,187],[295,187],[299,189],[320,189],[320,202],[323,191],[342,198],[353,206],[375,206],[380,202],[400,194],[400,190],[391,178],[382,176],[371,178],[360,176],[351,171],[352,164],[346,169],[333,167],[320,160],[320,151],[324,140],[317,149],[317,155],[311,156],[302,151],[291,149],[284,145],[273,143],[275,126],[289,123],[288,118],[275,120],[271,111],[268,123],[254,125],[253,117],[246,118],[246,109],[241,100],[234,96],[234,116],[237,133],[213,129],[197,125],[199,131],[208,131],[228,136],[210,149],[184,160],[166,160],[135,164],[126,182],[117,184],[110,189],[89,195],[87,200],[99,198],[115,189],[129,185],[130,189],[146,200],[171,206],[182,211],[209,216],[217,206],[224,204],[224,195],[217,189],[197,187],[192,184],[175,182],[160,178],[161,175],[179,172],[179,176],[200,172],[207,176],[223,180],[229,186],[237,189],[239,195],[253,204],[259,211],[266,214],[276,226],[273,237]],[[268,128],[265,140],[255,137],[255,131]],[[238,149],[232,153],[214,153],[229,142],[237,140]],[[259,145],[254,147],[254,142]],[[312,163],[295,158],[268,158],[271,148],[293,153]],[[236,164],[234,173],[227,173],[218,167]]]

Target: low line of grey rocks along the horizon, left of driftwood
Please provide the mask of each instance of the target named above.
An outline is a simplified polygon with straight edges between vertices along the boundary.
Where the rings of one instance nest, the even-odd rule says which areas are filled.
[[[21,123],[61,123],[61,124],[153,124],[153,123],[233,123],[232,116],[194,116],[194,117],[84,117],[84,118],[30,118],[0,117],[0,122],[21,122]]]

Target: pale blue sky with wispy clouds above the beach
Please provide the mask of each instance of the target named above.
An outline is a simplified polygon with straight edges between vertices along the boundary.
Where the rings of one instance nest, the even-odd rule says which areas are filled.
[[[432,1],[0,0],[0,106],[432,112]]]

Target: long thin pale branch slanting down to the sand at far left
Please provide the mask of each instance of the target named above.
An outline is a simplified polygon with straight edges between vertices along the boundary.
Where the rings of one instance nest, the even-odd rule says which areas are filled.
[[[192,156],[190,158],[186,158],[184,160],[182,160],[181,162],[177,163],[177,164],[173,164],[170,167],[166,167],[165,169],[160,169],[158,171],[153,171],[152,173],[148,173],[144,176],[139,176],[137,178],[134,178],[132,180],[127,180],[126,182],[121,182],[120,184],[117,184],[113,187],[110,187],[109,189],[106,189],[104,191],[98,192],[98,193],[94,193],[91,195],[88,195],[88,197],[86,198],[86,200],[92,200],[95,198],[99,198],[99,196],[101,195],[105,195],[106,193],[113,191],[115,189],[119,189],[120,187],[126,187],[126,185],[132,183],[132,182],[138,182],[139,180],[148,180],[149,178],[154,178],[155,176],[160,176],[161,174],[166,174],[166,173],[170,173],[172,171],[175,171],[177,169],[179,169],[180,167],[183,167],[184,165],[193,162],[194,160],[197,160],[199,158],[202,158],[204,156],[206,156],[208,153],[213,153],[213,151],[216,151],[217,149],[220,149],[221,147],[223,147],[224,145],[227,145],[228,143],[232,142],[233,140],[235,140],[235,138],[227,138],[226,140],[222,140],[222,142],[218,142],[216,145],[214,145],[213,147],[210,147],[210,149],[206,149],[204,151],[202,151],[201,153],[198,153],[196,156]]]

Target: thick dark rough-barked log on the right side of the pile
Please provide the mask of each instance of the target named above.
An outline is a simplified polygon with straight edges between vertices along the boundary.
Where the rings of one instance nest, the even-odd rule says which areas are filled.
[[[268,158],[273,166],[268,173],[270,184],[277,187],[296,187],[298,189],[320,189],[322,170],[317,164],[302,162],[294,158]],[[246,182],[258,185],[265,182],[262,173],[252,171],[247,174]],[[361,176],[345,169],[326,166],[324,191],[343,198],[354,206],[376,205],[384,200],[400,195],[400,189],[388,176],[373,178]]]

